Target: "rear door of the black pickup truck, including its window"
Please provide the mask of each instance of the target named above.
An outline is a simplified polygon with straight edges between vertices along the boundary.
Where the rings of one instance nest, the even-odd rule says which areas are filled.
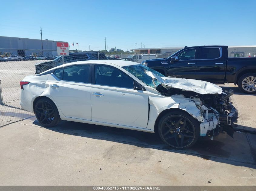
[[[226,58],[220,47],[198,49],[196,79],[210,82],[224,82]]]

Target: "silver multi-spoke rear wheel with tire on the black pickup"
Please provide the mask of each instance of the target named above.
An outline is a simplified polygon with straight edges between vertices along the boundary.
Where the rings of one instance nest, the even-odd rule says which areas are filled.
[[[256,74],[248,73],[242,75],[238,80],[239,89],[246,94],[256,93]]]

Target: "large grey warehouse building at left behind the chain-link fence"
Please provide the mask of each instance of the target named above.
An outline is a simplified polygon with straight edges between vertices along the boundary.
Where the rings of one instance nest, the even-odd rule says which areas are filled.
[[[35,53],[37,56],[57,56],[57,42],[63,41],[48,39],[42,41],[41,39],[0,36],[0,55],[3,55],[4,53],[11,53],[12,55],[17,56],[29,56]]]

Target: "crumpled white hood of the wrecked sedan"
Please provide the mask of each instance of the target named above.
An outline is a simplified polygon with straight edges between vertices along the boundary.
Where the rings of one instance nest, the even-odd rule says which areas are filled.
[[[198,94],[221,94],[222,89],[210,82],[184,78],[160,77],[148,70],[145,73],[153,79],[157,79],[165,89],[177,88],[184,91],[194,91]]]

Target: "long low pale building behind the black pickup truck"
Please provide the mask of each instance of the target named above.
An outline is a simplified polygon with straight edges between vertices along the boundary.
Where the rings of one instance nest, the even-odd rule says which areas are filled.
[[[184,47],[158,47],[158,48],[137,48],[131,49],[134,53],[157,53],[157,54],[173,54]],[[228,57],[256,57],[256,45],[250,46],[228,46]]]

